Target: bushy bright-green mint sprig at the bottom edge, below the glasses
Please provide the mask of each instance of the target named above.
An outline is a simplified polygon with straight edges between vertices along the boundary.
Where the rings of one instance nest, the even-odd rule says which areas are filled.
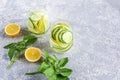
[[[38,67],[38,70],[26,73],[26,75],[42,73],[47,76],[48,80],[69,80],[72,69],[65,68],[68,63],[68,57],[58,59],[55,55],[48,55],[48,52],[44,52],[44,57],[45,60]]]

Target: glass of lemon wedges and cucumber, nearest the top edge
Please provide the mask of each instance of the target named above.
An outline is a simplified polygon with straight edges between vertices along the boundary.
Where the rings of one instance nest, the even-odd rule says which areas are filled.
[[[49,29],[48,14],[44,9],[30,12],[28,18],[28,29],[35,36],[41,36]]]

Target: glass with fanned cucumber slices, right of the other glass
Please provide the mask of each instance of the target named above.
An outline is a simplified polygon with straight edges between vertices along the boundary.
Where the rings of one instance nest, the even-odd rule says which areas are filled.
[[[73,45],[73,32],[68,23],[60,22],[51,29],[50,46],[58,53],[66,52]]]

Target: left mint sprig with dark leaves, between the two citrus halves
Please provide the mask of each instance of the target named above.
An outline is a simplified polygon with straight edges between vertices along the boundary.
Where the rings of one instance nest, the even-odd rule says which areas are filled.
[[[35,36],[28,35],[24,36],[22,41],[13,42],[4,46],[5,49],[9,49],[8,56],[10,59],[10,64],[8,65],[8,68],[10,68],[14,62],[16,62],[27,46],[33,44],[36,40],[37,38]]]

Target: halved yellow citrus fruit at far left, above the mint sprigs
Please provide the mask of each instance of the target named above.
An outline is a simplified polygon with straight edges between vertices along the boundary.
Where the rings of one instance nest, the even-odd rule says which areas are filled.
[[[10,23],[5,27],[5,33],[8,36],[17,36],[20,32],[20,26],[16,23]]]

